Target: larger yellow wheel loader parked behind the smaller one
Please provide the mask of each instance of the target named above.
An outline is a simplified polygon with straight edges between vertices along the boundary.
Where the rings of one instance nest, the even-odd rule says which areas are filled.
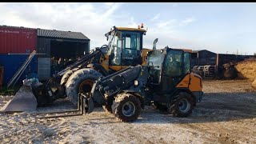
[[[145,34],[146,30],[140,27],[113,26],[110,32],[105,34],[108,45],[96,48],[90,54],[67,66],[65,70],[54,74],[40,86],[22,87],[22,90],[19,90],[20,94],[16,95],[24,100],[26,95],[33,93],[37,99],[37,106],[46,106],[59,98],[68,97],[70,102],[77,106],[78,93],[90,94],[94,81],[99,77],[113,74],[128,66],[146,64],[146,52],[150,50],[142,49],[142,37]],[[26,93],[25,91],[29,89],[31,89],[30,92]],[[19,98],[16,99],[15,102],[11,102],[13,104],[10,107],[20,105]],[[24,106],[31,105],[29,100],[22,102]],[[18,107],[18,110],[22,111],[20,106]]]

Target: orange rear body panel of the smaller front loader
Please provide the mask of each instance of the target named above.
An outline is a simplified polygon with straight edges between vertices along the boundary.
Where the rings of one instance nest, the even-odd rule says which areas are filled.
[[[190,91],[202,91],[202,78],[198,74],[186,74],[182,82],[179,82],[177,88],[189,88]]]

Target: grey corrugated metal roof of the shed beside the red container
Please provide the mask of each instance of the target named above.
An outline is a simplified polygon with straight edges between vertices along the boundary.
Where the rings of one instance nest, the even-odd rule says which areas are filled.
[[[44,30],[44,29],[38,29],[38,37],[90,40],[81,32],[71,32],[71,31],[61,31],[61,30]]]

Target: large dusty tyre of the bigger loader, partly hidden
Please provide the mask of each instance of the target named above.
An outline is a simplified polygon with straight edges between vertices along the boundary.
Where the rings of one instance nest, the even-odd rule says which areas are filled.
[[[66,95],[74,106],[78,106],[78,93],[90,94],[94,81],[102,74],[96,70],[84,68],[77,70],[66,82]]]

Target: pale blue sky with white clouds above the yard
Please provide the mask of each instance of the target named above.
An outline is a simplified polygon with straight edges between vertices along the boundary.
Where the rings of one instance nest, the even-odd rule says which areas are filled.
[[[90,49],[112,26],[148,28],[145,48],[256,53],[256,3],[0,3],[0,25],[82,32]]]

